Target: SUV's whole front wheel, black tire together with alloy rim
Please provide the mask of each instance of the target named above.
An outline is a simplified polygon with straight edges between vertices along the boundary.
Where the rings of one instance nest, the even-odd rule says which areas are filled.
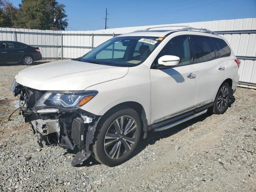
[[[95,159],[107,166],[126,162],[136,149],[141,136],[141,120],[131,108],[105,114],[98,126],[92,151]]]

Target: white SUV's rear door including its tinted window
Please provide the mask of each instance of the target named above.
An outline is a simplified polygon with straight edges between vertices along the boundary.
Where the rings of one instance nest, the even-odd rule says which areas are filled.
[[[190,35],[194,64],[198,70],[196,107],[214,102],[220,84],[225,78],[225,64],[218,55],[211,37]]]

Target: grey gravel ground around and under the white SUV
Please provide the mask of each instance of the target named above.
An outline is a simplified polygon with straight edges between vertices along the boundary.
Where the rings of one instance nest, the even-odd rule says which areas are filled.
[[[18,71],[0,65],[1,191],[256,191],[256,90],[238,88],[223,115],[202,115],[172,129],[151,132],[128,162],[107,167],[75,154],[39,148],[9,92]]]

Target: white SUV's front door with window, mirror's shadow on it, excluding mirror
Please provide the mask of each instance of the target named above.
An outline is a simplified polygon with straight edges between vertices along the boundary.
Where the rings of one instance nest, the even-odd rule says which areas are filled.
[[[174,68],[156,69],[158,58],[174,55],[180,63]],[[172,38],[156,57],[150,69],[152,123],[193,110],[196,101],[197,69],[191,64],[188,36]]]

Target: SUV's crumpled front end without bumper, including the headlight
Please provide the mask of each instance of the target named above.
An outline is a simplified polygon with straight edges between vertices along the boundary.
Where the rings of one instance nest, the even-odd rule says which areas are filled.
[[[14,80],[11,86],[14,96],[20,95],[18,108],[25,122],[30,122],[38,144],[58,145],[79,152],[72,166],[81,164],[91,154],[96,125],[100,116],[80,109],[80,105],[92,99],[97,91],[48,92],[20,85]]]

